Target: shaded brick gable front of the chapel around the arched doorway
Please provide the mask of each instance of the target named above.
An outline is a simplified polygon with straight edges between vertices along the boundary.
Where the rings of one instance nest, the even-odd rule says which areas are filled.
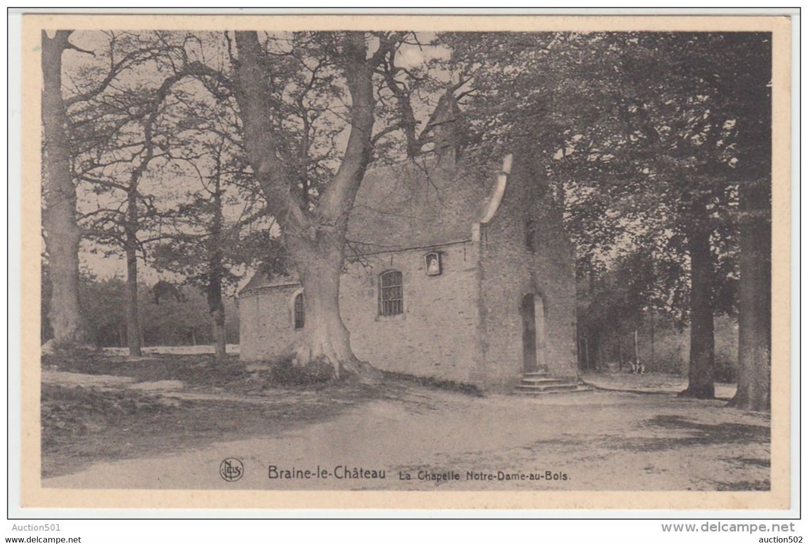
[[[524,360],[520,304],[527,293],[541,295],[544,306],[545,342],[538,345],[537,359],[553,375],[577,374],[572,252],[551,202],[541,171],[517,157],[499,209],[481,231],[480,335],[484,341],[474,381],[510,386],[519,379]],[[528,219],[535,221],[535,253],[525,243]]]

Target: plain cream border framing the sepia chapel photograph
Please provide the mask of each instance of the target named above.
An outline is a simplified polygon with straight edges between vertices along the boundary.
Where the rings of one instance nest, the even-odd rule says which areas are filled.
[[[772,32],[771,491],[67,490],[40,479],[40,30],[415,29],[464,31]],[[22,508],[786,509],[790,500],[790,102],[788,16],[669,15],[23,15]],[[28,92],[26,92],[28,90]],[[786,251],[782,251],[785,248]],[[781,251],[778,251],[781,250]],[[784,289],[785,286],[785,289]],[[619,505],[616,506],[616,505]]]

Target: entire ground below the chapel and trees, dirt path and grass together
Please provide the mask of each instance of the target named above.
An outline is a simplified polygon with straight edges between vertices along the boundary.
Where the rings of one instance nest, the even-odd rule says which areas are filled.
[[[768,415],[678,399],[680,377],[583,379],[596,389],[530,399],[393,376],[332,386],[200,354],[45,356],[43,485],[768,489]],[[242,479],[221,478],[225,458]]]

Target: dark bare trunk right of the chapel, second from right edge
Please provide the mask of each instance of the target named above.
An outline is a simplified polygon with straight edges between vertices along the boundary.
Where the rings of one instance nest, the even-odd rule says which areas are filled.
[[[693,221],[688,233],[690,253],[690,366],[688,388],[680,396],[713,399],[715,338],[713,336],[713,253],[710,231]]]

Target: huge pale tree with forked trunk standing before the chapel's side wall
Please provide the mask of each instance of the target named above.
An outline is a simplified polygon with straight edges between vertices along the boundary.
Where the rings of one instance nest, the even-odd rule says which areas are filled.
[[[287,141],[280,137],[277,127],[283,119],[283,109],[273,80],[282,70],[283,61],[297,52],[272,52],[256,32],[235,34],[236,97],[246,157],[267,200],[267,209],[280,224],[284,245],[306,293],[305,340],[298,349],[297,361],[329,365],[335,377],[373,373],[371,365],[359,361],[351,350],[350,334],[339,314],[339,282],[345,263],[348,217],[372,159],[377,107],[373,76],[384,61],[390,61],[390,53],[405,36],[406,33],[368,36],[362,32],[297,36],[304,40],[301,45],[305,52],[301,53],[306,58],[292,69],[302,68],[311,74],[303,84],[304,91],[318,82],[310,66],[320,66],[322,72],[331,71],[332,80],[341,78],[350,99],[347,141],[342,156],[336,160],[339,166],[319,184],[313,199],[306,190],[311,185],[301,183],[299,172],[292,169],[292,160],[284,160]],[[372,54],[368,54],[370,39],[376,42]],[[305,96],[299,96],[305,100]],[[339,94],[332,96],[340,98]]]

